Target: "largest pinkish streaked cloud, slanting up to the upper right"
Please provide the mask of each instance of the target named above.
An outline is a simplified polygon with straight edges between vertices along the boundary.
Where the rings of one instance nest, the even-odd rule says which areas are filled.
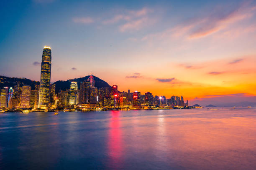
[[[229,11],[225,10],[225,7],[215,7],[215,9],[210,13],[185,20],[182,23],[161,32],[145,35],[141,40],[159,40],[161,42],[163,42],[163,40],[167,40],[169,43],[169,40],[173,40],[174,38],[180,39],[183,37],[184,40],[191,40],[206,37],[215,32],[219,32],[221,34],[223,34],[223,32],[220,31],[228,30],[230,32],[236,29],[236,27],[229,28],[228,26],[233,26],[232,24],[251,18],[251,16],[255,14],[256,8],[249,6],[250,4],[242,4]],[[250,28],[243,25],[239,32],[242,34],[253,31],[255,31],[254,25]]]

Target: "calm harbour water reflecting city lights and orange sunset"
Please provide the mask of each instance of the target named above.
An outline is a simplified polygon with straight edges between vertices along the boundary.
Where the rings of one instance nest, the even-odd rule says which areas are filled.
[[[1,113],[0,169],[255,170],[256,109]]]

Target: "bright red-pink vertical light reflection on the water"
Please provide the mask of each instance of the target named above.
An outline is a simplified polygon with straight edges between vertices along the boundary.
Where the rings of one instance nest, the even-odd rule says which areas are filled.
[[[120,130],[120,112],[112,111],[109,125],[109,141],[108,155],[110,156],[111,166],[121,165],[122,145],[121,145],[121,130]],[[120,168],[120,167],[116,167]]]

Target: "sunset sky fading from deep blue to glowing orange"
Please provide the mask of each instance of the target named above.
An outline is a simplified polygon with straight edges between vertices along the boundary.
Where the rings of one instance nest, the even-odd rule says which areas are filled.
[[[0,75],[51,82],[93,75],[118,90],[256,100],[256,1],[3,1]],[[209,103],[212,104],[212,103]]]

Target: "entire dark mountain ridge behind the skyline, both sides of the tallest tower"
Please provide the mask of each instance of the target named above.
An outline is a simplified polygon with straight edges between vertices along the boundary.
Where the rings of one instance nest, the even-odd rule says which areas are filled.
[[[80,82],[87,80],[90,77],[90,75],[87,75],[85,77],[81,77],[81,78],[75,78],[75,79],[70,79],[67,81],[56,81],[54,82],[54,84],[56,84],[56,89],[55,92],[59,92],[59,90],[67,90],[70,87],[70,84],[72,81],[76,81],[77,82],[77,86],[78,89],[80,89]],[[101,87],[111,87],[107,82],[105,82],[104,80],[101,80],[100,78],[94,76],[94,80],[95,80],[95,87],[97,88],[101,88]],[[34,81],[34,80],[30,80],[27,78],[17,78],[17,77],[5,77],[5,76],[0,76],[0,88],[2,87],[14,87],[17,82],[20,81],[20,86],[23,85],[30,85],[31,86],[31,90],[35,89],[35,85],[39,85],[40,82],[39,81]]]

